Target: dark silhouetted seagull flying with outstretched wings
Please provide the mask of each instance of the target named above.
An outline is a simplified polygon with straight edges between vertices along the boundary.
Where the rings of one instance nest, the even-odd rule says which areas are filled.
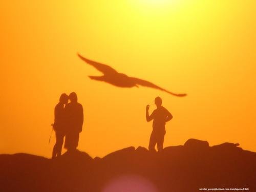
[[[85,61],[89,65],[95,67],[98,71],[100,71],[101,73],[104,74],[103,76],[89,76],[91,79],[98,80],[98,81],[104,81],[104,82],[110,83],[116,87],[132,88],[132,87],[144,86],[144,87],[158,89],[158,90],[167,92],[171,95],[178,96],[178,97],[186,96],[186,94],[176,94],[176,93],[169,92],[163,88],[160,88],[159,86],[156,86],[156,84],[154,84],[152,82],[149,82],[149,81],[146,81],[143,79],[139,79],[139,78],[135,78],[135,77],[129,77],[125,74],[118,73],[116,70],[114,70],[112,67],[110,67],[108,65],[87,59],[87,58],[81,56],[80,54],[77,54],[77,55],[83,61]]]

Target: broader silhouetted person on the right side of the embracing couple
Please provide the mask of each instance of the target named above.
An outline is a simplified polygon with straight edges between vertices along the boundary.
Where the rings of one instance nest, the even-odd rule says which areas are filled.
[[[79,133],[82,131],[83,124],[83,108],[80,103],[77,102],[77,95],[72,92],[69,95],[70,102],[65,107],[66,112],[66,139],[65,148],[68,151],[75,151],[78,146]]]

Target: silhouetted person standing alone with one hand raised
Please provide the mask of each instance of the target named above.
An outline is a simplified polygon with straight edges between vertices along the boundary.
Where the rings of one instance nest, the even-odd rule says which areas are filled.
[[[165,123],[173,118],[172,114],[162,106],[162,99],[155,98],[157,109],[151,115],[148,115],[150,105],[146,106],[146,121],[150,122],[153,119],[153,131],[150,136],[150,144],[148,150],[156,151],[155,145],[157,144],[158,151],[163,150],[163,141],[165,135]]]

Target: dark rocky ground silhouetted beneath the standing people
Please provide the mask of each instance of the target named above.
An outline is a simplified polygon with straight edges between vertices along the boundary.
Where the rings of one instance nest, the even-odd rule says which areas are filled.
[[[113,182],[134,187],[147,183],[166,192],[204,187],[256,191],[255,173],[256,153],[233,143],[209,147],[207,141],[196,139],[184,146],[165,147],[161,153],[127,147],[94,159],[79,151],[53,160],[28,154],[0,155],[0,191],[94,192],[104,191]]]

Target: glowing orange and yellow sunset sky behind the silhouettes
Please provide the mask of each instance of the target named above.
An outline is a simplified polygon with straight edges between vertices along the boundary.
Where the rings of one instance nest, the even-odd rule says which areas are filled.
[[[93,157],[147,147],[156,96],[174,116],[164,146],[197,138],[256,151],[255,11],[254,0],[1,1],[0,153],[50,157],[54,106],[73,91],[78,148]],[[77,52],[188,96],[93,81],[100,73]]]

